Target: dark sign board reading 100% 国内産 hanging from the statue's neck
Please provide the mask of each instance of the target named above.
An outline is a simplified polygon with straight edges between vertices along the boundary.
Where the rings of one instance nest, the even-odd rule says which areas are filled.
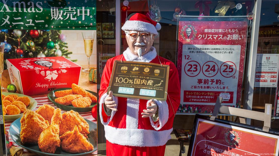
[[[109,89],[118,97],[167,99],[169,66],[147,62],[115,61]]]

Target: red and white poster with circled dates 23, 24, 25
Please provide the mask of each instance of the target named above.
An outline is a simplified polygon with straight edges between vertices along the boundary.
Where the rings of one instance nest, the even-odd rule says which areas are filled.
[[[179,113],[212,113],[218,96],[240,107],[247,19],[239,20],[179,22]]]

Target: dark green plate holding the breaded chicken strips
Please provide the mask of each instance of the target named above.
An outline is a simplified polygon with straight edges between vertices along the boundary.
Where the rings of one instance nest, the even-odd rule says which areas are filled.
[[[61,104],[58,104],[57,102],[54,101],[54,99],[56,99],[57,97],[55,97],[54,95],[54,92],[56,91],[60,91],[60,90],[67,90],[67,89],[71,89],[71,88],[60,88],[60,89],[55,89],[51,92],[49,92],[49,94],[47,94],[47,97],[49,98],[49,100],[58,108],[62,109],[62,110],[67,110],[67,111],[70,111],[70,110],[73,110],[73,111],[76,111],[76,112],[79,112],[79,113],[83,113],[83,112],[91,112],[92,110],[92,107],[94,107],[97,103],[91,103],[90,107],[74,107],[73,105],[61,105]],[[92,92],[92,91],[89,91],[89,90],[86,90],[90,93],[92,93],[93,95],[97,96],[97,93],[95,92]]]

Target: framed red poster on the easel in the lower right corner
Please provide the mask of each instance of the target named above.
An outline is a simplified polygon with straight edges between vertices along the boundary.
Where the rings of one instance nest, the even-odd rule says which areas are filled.
[[[278,156],[277,135],[204,119],[195,134],[191,156]]]

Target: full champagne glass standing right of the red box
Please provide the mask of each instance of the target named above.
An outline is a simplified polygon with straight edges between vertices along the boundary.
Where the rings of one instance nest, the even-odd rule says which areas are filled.
[[[83,72],[89,72],[90,66],[89,66],[89,58],[92,55],[93,52],[93,42],[95,38],[95,32],[81,32],[82,37],[83,37],[83,42],[84,42],[84,49],[85,49],[85,55],[88,58],[88,67],[87,69],[83,69]]]

